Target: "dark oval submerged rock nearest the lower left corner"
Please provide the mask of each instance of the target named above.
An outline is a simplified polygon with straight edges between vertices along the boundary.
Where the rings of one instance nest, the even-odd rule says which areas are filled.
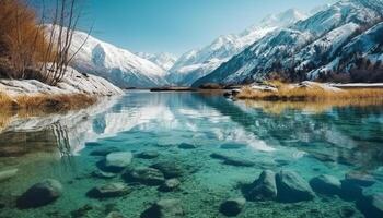
[[[46,179],[31,186],[18,198],[19,208],[34,208],[55,202],[62,194],[62,185],[54,179]]]

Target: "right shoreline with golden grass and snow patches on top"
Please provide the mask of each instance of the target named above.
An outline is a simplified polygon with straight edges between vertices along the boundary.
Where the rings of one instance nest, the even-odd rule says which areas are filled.
[[[268,82],[262,85],[245,86],[227,94],[241,100],[263,101],[344,101],[344,100],[383,100],[383,84],[329,84],[302,82],[285,84]]]

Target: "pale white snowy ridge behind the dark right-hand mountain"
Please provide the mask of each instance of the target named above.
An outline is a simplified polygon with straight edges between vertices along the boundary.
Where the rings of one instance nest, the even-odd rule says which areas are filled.
[[[305,17],[304,13],[290,9],[280,14],[265,17],[259,24],[245,29],[241,34],[220,36],[205,48],[184,53],[170,69],[170,74],[166,78],[174,84],[190,85],[266,34],[279,27],[289,26]]]

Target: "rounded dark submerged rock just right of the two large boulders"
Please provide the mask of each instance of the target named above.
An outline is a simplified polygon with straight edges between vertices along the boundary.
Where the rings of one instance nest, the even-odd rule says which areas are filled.
[[[340,181],[332,175],[322,174],[310,180],[311,187],[321,194],[335,195],[340,193]]]

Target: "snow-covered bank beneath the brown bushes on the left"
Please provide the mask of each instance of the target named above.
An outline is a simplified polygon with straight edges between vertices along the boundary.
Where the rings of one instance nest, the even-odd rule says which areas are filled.
[[[124,92],[105,78],[81,74],[68,68],[68,73],[57,86],[50,86],[36,80],[0,80],[0,93],[18,95],[70,95],[86,94],[96,96],[121,95]]]

